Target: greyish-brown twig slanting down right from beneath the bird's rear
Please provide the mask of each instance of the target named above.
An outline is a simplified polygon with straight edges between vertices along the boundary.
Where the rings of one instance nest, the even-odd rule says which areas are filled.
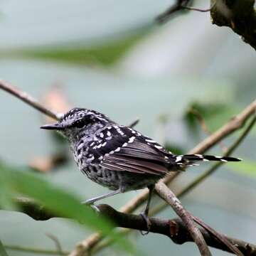
[[[173,208],[177,215],[181,218],[191,237],[198,246],[198,250],[201,252],[201,255],[210,256],[210,250],[203,238],[201,231],[196,227],[195,223],[193,223],[193,218],[191,217],[190,213],[183,208],[181,202],[178,200],[178,198],[176,198],[174,193],[163,182],[157,183],[155,190],[159,196],[166,201],[166,203],[169,203],[171,208]]]

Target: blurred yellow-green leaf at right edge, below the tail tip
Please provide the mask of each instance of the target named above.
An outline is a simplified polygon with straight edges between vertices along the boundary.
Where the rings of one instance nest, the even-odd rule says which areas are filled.
[[[233,171],[237,171],[240,174],[247,175],[253,178],[256,178],[256,162],[245,160],[240,161],[239,163],[229,163],[228,168]]]

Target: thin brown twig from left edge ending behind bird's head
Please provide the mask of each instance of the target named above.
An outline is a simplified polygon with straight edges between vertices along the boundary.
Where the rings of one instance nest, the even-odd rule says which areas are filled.
[[[41,105],[37,100],[31,97],[31,95],[28,95],[26,92],[19,90],[18,88],[11,85],[9,82],[0,80],[0,88],[2,90],[5,90],[6,92],[11,93],[11,95],[18,97],[18,99],[22,100],[23,102],[26,102],[28,105],[31,105],[31,107],[35,108],[36,110],[39,110],[43,114],[48,115],[48,117],[53,117],[54,119],[59,119],[61,117],[60,113],[48,110],[48,108]]]

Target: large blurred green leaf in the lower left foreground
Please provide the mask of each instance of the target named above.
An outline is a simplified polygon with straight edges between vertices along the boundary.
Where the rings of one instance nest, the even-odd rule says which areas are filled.
[[[82,205],[77,196],[57,188],[38,174],[32,174],[28,169],[18,170],[1,164],[0,180],[8,186],[13,197],[17,193],[21,193],[33,198],[50,210],[51,213],[77,220],[92,230],[98,230],[103,235],[110,235],[118,242],[119,247],[128,252],[132,251],[129,242],[119,238],[117,233],[112,231],[113,225],[109,221],[100,218],[92,208]],[[2,184],[3,182],[0,183],[0,189]],[[1,199],[0,205],[3,206],[4,202]]]

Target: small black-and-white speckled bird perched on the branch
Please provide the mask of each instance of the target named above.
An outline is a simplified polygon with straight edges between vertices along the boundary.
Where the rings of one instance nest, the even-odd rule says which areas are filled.
[[[141,213],[150,229],[149,205],[154,186],[171,171],[184,171],[200,161],[241,161],[228,156],[173,154],[150,137],[132,127],[117,124],[107,115],[75,107],[58,122],[41,129],[60,132],[73,151],[78,169],[90,180],[112,192],[84,203],[93,205],[100,199],[127,191],[149,188],[146,208]]]

